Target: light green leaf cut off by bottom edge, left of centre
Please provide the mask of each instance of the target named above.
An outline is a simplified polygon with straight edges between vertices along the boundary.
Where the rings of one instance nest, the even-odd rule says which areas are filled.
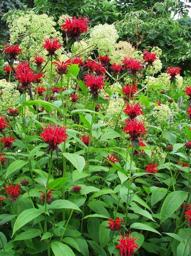
[[[52,242],[51,248],[55,256],[75,256],[71,248],[61,242]]]

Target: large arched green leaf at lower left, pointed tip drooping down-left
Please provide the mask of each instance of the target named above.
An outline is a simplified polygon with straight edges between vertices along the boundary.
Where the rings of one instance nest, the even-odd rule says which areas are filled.
[[[27,224],[29,221],[35,219],[42,213],[43,213],[42,210],[35,209],[35,208],[27,209],[27,210],[24,210],[23,212],[21,212],[15,221],[12,237],[17,230],[19,230],[22,226]]]

